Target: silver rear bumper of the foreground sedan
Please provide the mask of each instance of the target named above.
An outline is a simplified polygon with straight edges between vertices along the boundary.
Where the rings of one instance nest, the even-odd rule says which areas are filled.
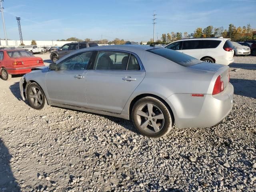
[[[192,97],[190,94],[173,94],[166,102],[173,110],[178,128],[212,127],[221,122],[232,110],[234,88],[228,84],[223,92],[212,96]]]

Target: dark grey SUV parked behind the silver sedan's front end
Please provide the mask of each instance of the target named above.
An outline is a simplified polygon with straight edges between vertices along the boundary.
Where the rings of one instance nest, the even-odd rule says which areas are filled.
[[[73,42],[64,44],[58,50],[52,51],[50,54],[50,59],[55,63],[58,59],[70,54],[72,51],[83,49],[87,47],[98,46],[96,42]]]

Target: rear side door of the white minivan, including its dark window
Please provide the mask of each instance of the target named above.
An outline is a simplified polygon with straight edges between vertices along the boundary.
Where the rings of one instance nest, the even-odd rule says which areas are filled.
[[[201,59],[201,40],[185,40],[182,43],[181,51],[184,54],[192,56],[197,59]]]

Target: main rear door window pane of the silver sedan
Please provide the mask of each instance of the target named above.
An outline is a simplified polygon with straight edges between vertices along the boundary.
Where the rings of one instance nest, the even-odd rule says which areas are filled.
[[[126,70],[128,59],[128,53],[99,51],[94,70]]]

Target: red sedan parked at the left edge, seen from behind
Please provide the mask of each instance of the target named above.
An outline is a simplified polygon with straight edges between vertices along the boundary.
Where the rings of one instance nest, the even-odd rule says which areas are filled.
[[[0,50],[1,78],[8,80],[12,74],[26,74],[32,68],[44,66],[40,57],[35,57],[24,50]]]

